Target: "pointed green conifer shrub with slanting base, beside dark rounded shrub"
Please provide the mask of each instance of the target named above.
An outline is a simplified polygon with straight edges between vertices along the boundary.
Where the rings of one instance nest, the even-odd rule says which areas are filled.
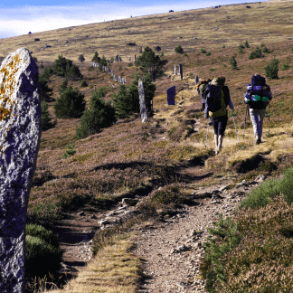
[[[76,129],[76,138],[89,137],[99,133],[101,128],[109,128],[117,118],[111,101],[105,101],[106,90],[94,90],[90,98],[90,109],[86,109],[80,118],[80,125]]]

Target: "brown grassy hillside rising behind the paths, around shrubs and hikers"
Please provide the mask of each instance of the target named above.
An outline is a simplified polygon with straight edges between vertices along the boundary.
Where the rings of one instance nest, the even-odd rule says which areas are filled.
[[[235,184],[260,173],[268,175],[273,170],[278,173],[291,165],[292,15],[291,1],[268,1],[147,15],[3,39],[0,43],[3,56],[26,47],[38,59],[40,71],[43,71],[42,63],[52,64],[60,54],[74,61],[89,86],[80,88],[80,81],[70,81],[70,84],[82,90],[88,101],[95,87],[108,89],[106,99],[111,99],[118,90],[118,82],[109,73],[90,67],[95,51],[108,59],[121,55],[122,62],[114,62],[111,68],[115,74],[127,78],[127,85],[136,69],[129,65],[129,56],[134,63],[139,47],[160,46],[168,60],[165,75],[156,80],[155,116],[148,124],[141,124],[138,116],[119,120],[112,128],[81,140],[74,138],[79,119],[57,119],[55,128],[43,131],[29,201],[29,221],[52,224],[62,218],[64,211],[74,210],[83,203],[98,204],[107,210],[121,196],[147,195],[159,186],[179,183],[195,190],[199,185],[220,180]],[[241,53],[238,46],[245,40],[250,48],[244,48]],[[130,42],[136,45],[129,46]],[[41,50],[45,44],[51,47]],[[178,44],[186,54],[175,53]],[[250,60],[250,52],[257,46],[262,50],[265,46],[270,52]],[[82,63],[78,61],[80,53],[85,57]],[[237,61],[237,70],[229,64],[232,56]],[[271,116],[265,119],[264,143],[255,146],[250,122],[243,139],[243,96],[251,75],[256,72],[264,75],[264,67],[273,58],[279,61],[279,79],[267,79],[273,95]],[[285,62],[289,68],[282,71]],[[184,80],[174,75],[174,65],[179,63],[183,63]],[[213,155],[213,131],[204,148],[207,120],[203,119],[201,99],[195,89],[196,75],[201,79],[225,76],[237,112],[240,141],[230,118],[219,156]],[[61,82],[60,77],[50,78],[54,99],[59,97]],[[174,85],[176,105],[168,107],[165,90]],[[49,111],[55,118],[53,104],[49,104]],[[62,155],[70,142],[76,154],[64,159]],[[180,168],[204,165],[204,161],[213,175],[208,182],[190,184],[179,175]],[[118,250],[126,251],[127,247],[122,243]]]

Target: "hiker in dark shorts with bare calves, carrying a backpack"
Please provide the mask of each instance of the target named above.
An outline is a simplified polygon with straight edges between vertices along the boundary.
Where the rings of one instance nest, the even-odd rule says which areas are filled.
[[[214,130],[215,154],[218,155],[222,149],[222,140],[228,122],[227,106],[234,109],[230,91],[225,84],[225,78],[215,78],[204,90],[205,109],[204,118],[212,118]],[[232,112],[232,115],[233,112]]]

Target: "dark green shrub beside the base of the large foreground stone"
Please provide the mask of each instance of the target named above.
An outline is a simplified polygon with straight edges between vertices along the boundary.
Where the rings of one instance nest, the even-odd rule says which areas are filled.
[[[62,250],[58,238],[43,226],[25,227],[25,272],[30,278],[44,277],[60,269]]]

